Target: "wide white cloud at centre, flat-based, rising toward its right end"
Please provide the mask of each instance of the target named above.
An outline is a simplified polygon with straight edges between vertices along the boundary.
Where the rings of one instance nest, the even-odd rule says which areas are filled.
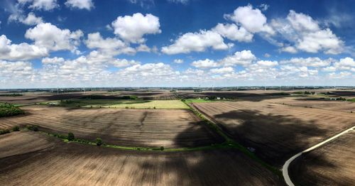
[[[168,55],[178,53],[202,52],[207,48],[214,50],[226,50],[228,45],[224,43],[221,35],[214,31],[200,31],[199,33],[185,33],[175,40],[173,45],[165,46],[161,51]]]

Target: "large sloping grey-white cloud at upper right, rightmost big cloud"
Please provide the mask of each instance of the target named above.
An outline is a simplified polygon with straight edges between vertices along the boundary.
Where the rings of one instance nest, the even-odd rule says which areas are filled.
[[[297,50],[302,50],[318,53],[323,50],[327,54],[339,54],[344,50],[344,42],[337,35],[329,28],[320,28],[317,21],[304,13],[291,10],[287,18],[271,21],[271,26],[282,38],[293,43],[281,48],[284,52],[297,53]]]

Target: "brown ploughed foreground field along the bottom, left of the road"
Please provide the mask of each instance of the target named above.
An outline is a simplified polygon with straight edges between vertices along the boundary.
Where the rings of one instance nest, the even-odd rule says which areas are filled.
[[[0,158],[0,165],[1,185],[283,185],[239,151],[139,152],[57,143]]]

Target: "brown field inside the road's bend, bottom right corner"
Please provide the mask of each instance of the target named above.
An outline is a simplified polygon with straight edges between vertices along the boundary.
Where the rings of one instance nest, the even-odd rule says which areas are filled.
[[[290,165],[290,177],[300,185],[354,185],[355,132],[346,133]]]

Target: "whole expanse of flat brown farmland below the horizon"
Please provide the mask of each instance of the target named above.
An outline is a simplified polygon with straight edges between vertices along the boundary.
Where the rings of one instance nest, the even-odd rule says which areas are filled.
[[[21,128],[0,136],[0,182],[284,185],[279,170],[285,160],[355,125],[354,102],[316,96],[150,90],[0,97],[23,104],[16,108],[25,113],[0,118],[0,130]],[[68,133],[75,141],[67,140]],[[352,137],[297,158],[291,179],[300,185],[349,185]],[[97,146],[96,138],[104,144]]]

